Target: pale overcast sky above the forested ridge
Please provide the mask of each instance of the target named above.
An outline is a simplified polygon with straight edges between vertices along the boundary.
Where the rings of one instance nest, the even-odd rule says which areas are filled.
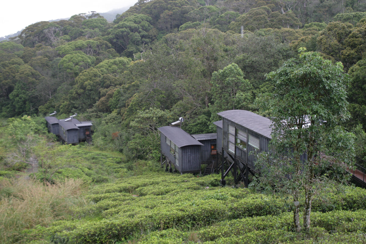
[[[33,23],[70,18],[90,11],[108,12],[132,6],[137,0],[5,0],[1,3],[0,37],[14,34]]]

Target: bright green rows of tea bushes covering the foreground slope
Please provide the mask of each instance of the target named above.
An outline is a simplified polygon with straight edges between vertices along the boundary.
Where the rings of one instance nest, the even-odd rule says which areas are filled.
[[[314,199],[311,233],[293,232],[290,200],[220,187],[219,175],[150,172],[99,184],[70,219],[23,233],[32,243],[366,243],[366,190]],[[38,241],[35,241],[38,240]],[[41,241],[40,241],[41,240]]]

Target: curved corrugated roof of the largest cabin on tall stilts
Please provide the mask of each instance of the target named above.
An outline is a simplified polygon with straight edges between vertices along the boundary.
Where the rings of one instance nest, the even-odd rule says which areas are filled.
[[[227,110],[217,113],[219,116],[240,124],[258,134],[271,139],[272,121],[247,110]]]

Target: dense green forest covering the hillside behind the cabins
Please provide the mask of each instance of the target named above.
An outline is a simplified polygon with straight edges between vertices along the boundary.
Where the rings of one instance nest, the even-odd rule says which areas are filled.
[[[155,128],[180,116],[189,133],[213,131],[222,110],[270,116],[258,102],[273,90],[265,75],[306,47],[343,63],[352,78],[346,127],[364,141],[365,8],[366,1],[154,0],[113,23],[97,13],[38,22],[0,43],[0,117],[77,112],[95,121],[94,145],[156,158]],[[231,64],[242,80],[213,78]]]

